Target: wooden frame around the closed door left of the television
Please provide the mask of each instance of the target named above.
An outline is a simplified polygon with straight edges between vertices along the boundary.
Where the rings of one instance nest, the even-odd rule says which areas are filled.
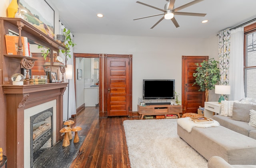
[[[107,78],[107,58],[129,58],[129,109],[128,109],[128,116],[132,117],[132,55],[117,55],[117,54],[104,54],[104,79]],[[100,113],[100,117],[108,117],[108,111],[107,111],[107,101],[106,97],[108,94],[108,88],[107,88],[107,82],[104,82],[103,84],[103,104],[104,104],[104,111]]]

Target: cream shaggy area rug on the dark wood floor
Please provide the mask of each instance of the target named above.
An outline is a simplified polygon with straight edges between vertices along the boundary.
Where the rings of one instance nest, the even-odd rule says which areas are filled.
[[[207,160],[177,135],[177,119],[123,125],[131,168],[207,168]]]

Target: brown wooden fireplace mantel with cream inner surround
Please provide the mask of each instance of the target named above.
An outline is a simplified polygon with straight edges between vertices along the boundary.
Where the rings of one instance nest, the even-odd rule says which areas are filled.
[[[6,97],[6,155],[8,167],[30,168],[30,117],[52,108],[53,145],[63,139],[63,94],[68,83],[2,85]]]

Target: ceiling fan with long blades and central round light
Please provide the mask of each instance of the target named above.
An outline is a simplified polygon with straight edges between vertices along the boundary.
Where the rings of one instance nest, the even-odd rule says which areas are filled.
[[[184,9],[184,8],[187,8],[188,6],[197,4],[198,2],[201,2],[201,1],[203,1],[203,0],[194,0],[194,1],[189,2],[189,3],[187,3],[187,4],[184,4],[184,5],[182,5],[182,6],[178,7],[178,8],[174,8],[174,2],[175,2],[175,0],[166,0],[166,1],[168,1],[168,2],[167,2],[167,4],[164,5],[164,10],[137,1],[136,3],[138,3],[138,4],[142,4],[142,5],[148,6],[148,7],[150,7],[150,8],[154,8],[154,9],[160,10],[160,11],[162,11],[162,12],[164,12],[164,13],[163,13],[163,14],[156,14],[156,15],[146,16],[146,17],[142,17],[142,18],[137,18],[137,19],[134,19],[134,20],[144,19],[144,18],[150,18],[150,17],[153,17],[153,16],[164,15],[160,20],[158,20],[158,22],[156,22],[156,24],[154,24],[154,25],[150,28],[150,29],[153,29],[153,28],[154,28],[160,21],[162,21],[163,19],[172,20],[172,22],[174,23],[174,25],[175,25],[176,27],[180,27],[180,25],[178,24],[178,22],[177,22],[176,19],[174,18],[174,15],[202,16],[202,17],[206,16],[206,14],[190,13],[190,12],[178,12],[179,10],[182,10],[182,9]]]

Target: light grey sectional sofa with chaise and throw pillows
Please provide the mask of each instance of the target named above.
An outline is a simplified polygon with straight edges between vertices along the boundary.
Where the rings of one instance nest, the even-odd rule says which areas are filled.
[[[207,160],[220,156],[231,165],[256,165],[256,101],[224,101],[222,106],[213,116],[220,126],[188,132],[177,121],[178,135]]]

